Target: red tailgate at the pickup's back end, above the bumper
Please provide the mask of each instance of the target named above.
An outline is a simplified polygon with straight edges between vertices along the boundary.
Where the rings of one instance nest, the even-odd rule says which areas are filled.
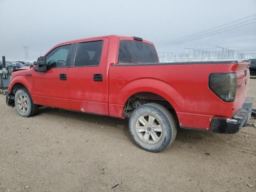
[[[234,113],[237,112],[243,105],[247,96],[247,89],[250,79],[249,62],[240,62],[236,69],[237,74],[237,89],[234,101]]]

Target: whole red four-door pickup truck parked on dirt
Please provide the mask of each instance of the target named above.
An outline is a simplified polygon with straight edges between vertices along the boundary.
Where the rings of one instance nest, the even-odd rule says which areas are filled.
[[[159,152],[181,128],[233,134],[249,122],[250,63],[159,63],[151,42],[101,36],[60,43],[12,73],[6,103],[30,117],[40,106],[129,117],[140,148]]]

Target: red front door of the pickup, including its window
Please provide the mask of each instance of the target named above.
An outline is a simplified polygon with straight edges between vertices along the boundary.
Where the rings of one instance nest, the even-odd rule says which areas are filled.
[[[33,72],[33,101],[38,105],[70,109],[68,66],[74,44],[54,48],[46,55],[47,72]]]

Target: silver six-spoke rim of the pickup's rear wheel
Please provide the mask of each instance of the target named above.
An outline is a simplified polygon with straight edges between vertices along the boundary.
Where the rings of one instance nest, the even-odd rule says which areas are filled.
[[[139,116],[135,128],[139,138],[147,144],[156,144],[162,138],[162,127],[152,115]]]

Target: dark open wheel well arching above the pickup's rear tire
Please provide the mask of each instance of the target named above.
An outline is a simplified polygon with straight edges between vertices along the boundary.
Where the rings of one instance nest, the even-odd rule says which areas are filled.
[[[146,103],[160,104],[166,107],[172,114],[174,114],[175,118],[178,119],[173,106],[165,98],[152,92],[138,92],[130,96],[124,105],[124,117],[130,117],[134,109]]]

